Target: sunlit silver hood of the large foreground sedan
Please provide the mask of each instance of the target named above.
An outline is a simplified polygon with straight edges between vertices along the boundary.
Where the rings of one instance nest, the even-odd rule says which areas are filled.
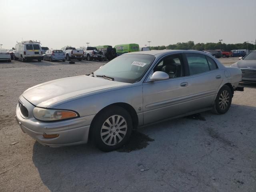
[[[22,96],[35,106],[48,107],[74,96],[108,89],[128,83],[90,76],[74,76],[45,82],[28,88]]]

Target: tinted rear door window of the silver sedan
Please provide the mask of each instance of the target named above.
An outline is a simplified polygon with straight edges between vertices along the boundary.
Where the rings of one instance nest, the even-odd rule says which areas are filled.
[[[186,58],[188,60],[188,68],[190,75],[196,75],[210,71],[208,61],[202,54],[187,53]]]

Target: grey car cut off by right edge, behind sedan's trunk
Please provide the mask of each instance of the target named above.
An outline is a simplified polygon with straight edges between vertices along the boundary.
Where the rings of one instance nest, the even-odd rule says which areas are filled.
[[[242,82],[256,83],[256,51],[248,53],[242,60],[235,62],[232,67],[242,71]]]

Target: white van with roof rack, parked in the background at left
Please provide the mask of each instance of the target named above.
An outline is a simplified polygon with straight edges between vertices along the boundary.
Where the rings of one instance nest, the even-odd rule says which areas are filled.
[[[22,41],[17,43],[15,48],[13,48],[14,59],[20,59],[22,62],[25,60],[36,59],[39,62],[43,59],[43,52],[40,46],[40,42],[36,41]]]

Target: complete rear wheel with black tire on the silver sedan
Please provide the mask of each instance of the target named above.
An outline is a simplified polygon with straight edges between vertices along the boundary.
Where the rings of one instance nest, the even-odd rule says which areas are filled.
[[[213,112],[216,114],[226,113],[230,108],[231,102],[232,102],[232,92],[229,86],[224,85],[222,88],[220,88],[216,96]]]

